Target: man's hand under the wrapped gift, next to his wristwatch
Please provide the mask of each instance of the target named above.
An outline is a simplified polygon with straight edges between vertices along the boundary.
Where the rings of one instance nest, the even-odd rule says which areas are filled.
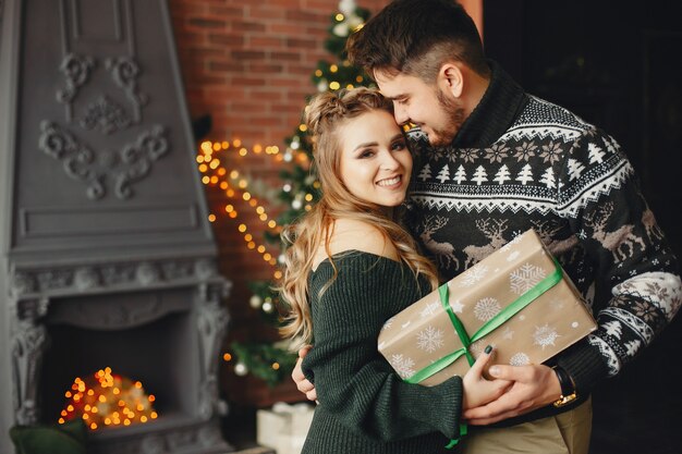
[[[544,407],[561,395],[557,375],[547,366],[503,366],[490,367],[490,376],[510,380],[513,384],[499,398],[463,413],[466,422],[484,426],[523,415]]]

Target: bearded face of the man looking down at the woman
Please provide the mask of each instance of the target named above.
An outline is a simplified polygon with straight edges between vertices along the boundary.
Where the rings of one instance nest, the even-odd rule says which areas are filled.
[[[393,101],[398,124],[413,123],[428,136],[433,146],[450,145],[464,121],[464,109],[451,94],[419,77],[375,71],[379,89]]]

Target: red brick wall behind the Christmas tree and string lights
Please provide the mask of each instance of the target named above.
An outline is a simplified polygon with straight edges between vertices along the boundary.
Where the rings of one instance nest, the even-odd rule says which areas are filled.
[[[376,12],[388,0],[357,3]],[[305,96],[316,91],[310,76],[317,62],[333,61],[322,44],[338,1],[170,0],[169,4],[190,113],[192,118],[212,118],[212,130],[206,139],[239,138],[247,149],[259,144],[277,145],[283,150],[284,138],[300,122]],[[282,163],[271,156],[227,155],[228,170],[249,172],[281,187],[277,174]],[[214,228],[221,268],[234,282],[228,302],[232,315],[229,340],[252,338],[255,331],[275,339],[275,333],[248,306],[251,292],[246,286],[249,280],[268,279],[272,268],[260,254],[246,248],[243,234],[238,231],[238,225],[245,223],[257,240],[265,225],[243,200],[228,200],[222,191],[211,186],[207,186],[207,196],[211,210],[218,214]],[[228,203],[240,212],[236,220],[223,214]],[[241,388],[244,383],[253,388],[253,380],[240,382],[231,376],[230,368],[226,369],[226,381],[231,383],[227,388]],[[239,390],[239,395],[227,392],[235,400],[244,395],[244,390]]]

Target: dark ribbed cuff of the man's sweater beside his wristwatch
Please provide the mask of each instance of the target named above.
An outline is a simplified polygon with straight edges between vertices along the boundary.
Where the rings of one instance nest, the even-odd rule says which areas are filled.
[[[571,375],[575,389],[582,394],[590,392],[609,375],[604,356],[586,339],[562,353],[557,364]]]

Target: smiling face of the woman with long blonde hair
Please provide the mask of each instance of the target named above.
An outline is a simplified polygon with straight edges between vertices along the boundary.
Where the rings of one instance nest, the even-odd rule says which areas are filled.
[[[337,134],[340,176],[351,194],[382,207],[400,205],[410,183],[412,155],[393,115],[373,110],[346,120]]]

